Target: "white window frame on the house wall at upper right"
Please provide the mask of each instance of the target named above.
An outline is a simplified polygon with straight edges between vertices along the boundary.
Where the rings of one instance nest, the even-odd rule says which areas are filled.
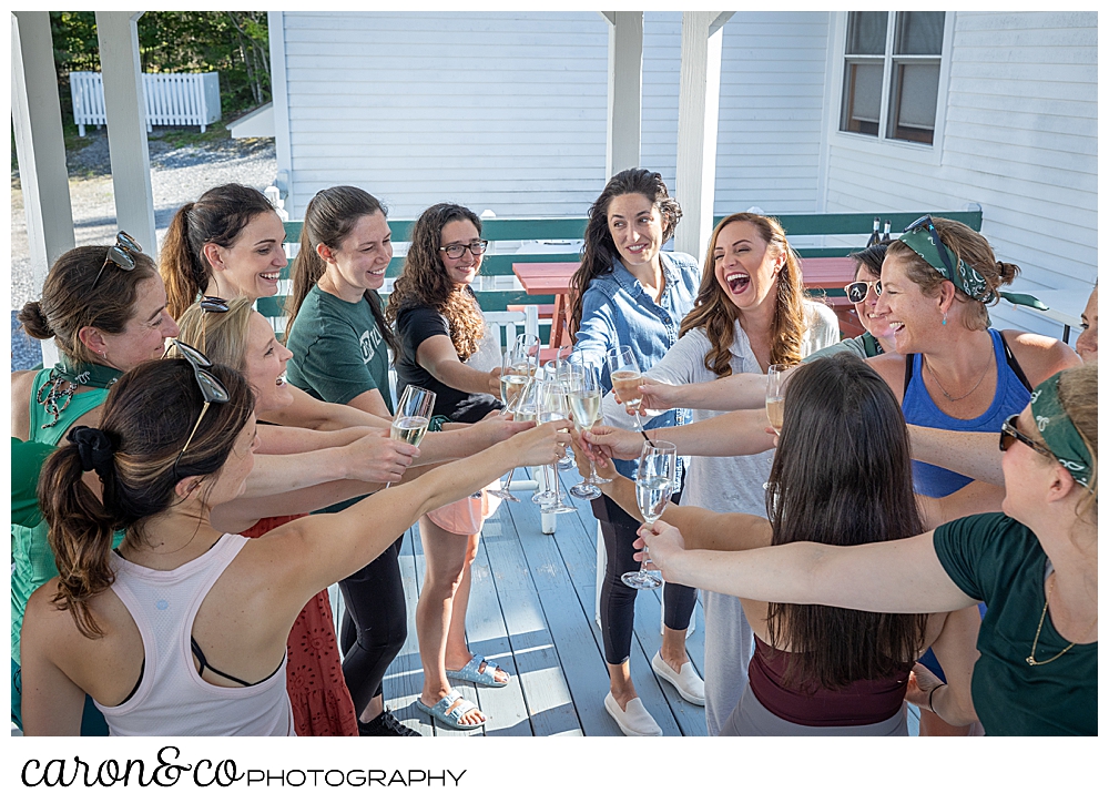
[[[882,71],[882,105],[878,119],[878,135],[862,134],[853,131],[841,131],[840,124],[843,119],[844,103],[844,72],[846,68],[847,49],[847,11],[838,11],[835,17],[835,24],[832,27],[834,70],[832,81],[828,87],[830,103],[828,109],[835,111],[830,115],[828,133],[836,146],[848,148],[854,151],[866,153],[885,153],[892,156],[904,157],[909,153],[916,153],[918,160],[924,163],[940,163],[940,155],[944,150],[944,131],[947,122],[947,100],[950,85],[952,72],[952,42],[955,38],[955,13],[947,11],[944,17],[944,44],[939,54],[939,85],[936,92],[936,128],[933,133],[932,144],[924,142],[912,142],[909,140],[895,140],[887,136],[889,120],[889,93],[893,81],[894,61],[893,54],[896,11],[889,11],[886,19],[886,52],[883,57]],[[896,61],[934,61],[935,55],[898,55]]]

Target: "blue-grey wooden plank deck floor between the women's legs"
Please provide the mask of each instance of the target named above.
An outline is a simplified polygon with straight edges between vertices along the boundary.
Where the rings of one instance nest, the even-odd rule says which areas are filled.
[[[578,481],[562,472],[563,487]],[[569,480],[569,482],[567,481]],[[593,620],[597,521],[588,502],[572,500],[576,514],[558,517],[553,536],[540,530],[531,491],[523,501],[502,502],[485,526],[474,563],[467,633],[470,649],[512,675],[502,689],[458,683],[457,689],[489,716],[474,731],[433,725],[415,701],[423,683],[414,621],[424,556],[416,528],[405,536],[400,558],[408,601],[408,640],[385,679],[386,704],[409,728],[437,736],[620,735],[604,711],[608,672],[600,629]],[[569,497],[569,495],[566,495]],[[650,660],[661,644],[661,597],[642,591],[635,606],[631,672],[643,704],[667,735],[705,735],[704,709],[685,702],[655,678]],[[704,623],[700,602],[688,649],[700,671]]]

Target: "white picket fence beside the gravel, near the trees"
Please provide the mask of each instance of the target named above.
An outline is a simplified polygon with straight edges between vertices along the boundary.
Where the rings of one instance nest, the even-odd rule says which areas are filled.
[[[143,73],[143,99],[146,102],[146,131],[153,125],[200,125],[220,119],[220,73],[191,72]],[[104,81],[99,72],[71,72],[70,96],[73,122],[84,136],[85,125],[108,123],[104,109]]]

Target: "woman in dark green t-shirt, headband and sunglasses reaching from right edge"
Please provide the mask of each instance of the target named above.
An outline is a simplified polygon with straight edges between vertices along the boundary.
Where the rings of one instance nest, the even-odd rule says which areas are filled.
[[[894,542],[745,552],[686,551],[659,522],[645,546],[667,581],[747,599],[896,613],[985,602],[973,710],[919,667],[910,701],[987,735],[1096,735],[1097,402],[1097,365],[1082,365],[1005,421],[1004,514]]]

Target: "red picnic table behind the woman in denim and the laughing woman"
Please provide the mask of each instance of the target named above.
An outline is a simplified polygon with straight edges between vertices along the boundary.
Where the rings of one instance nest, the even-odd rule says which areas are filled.
[[[550,346],[558,348],[570,342],[568,318],[570,312],[570,277],[578,270],[577,262],[516,262],[512,273],[520,279],[528,295],[553,295]],[[805,289],[838,289],[855,278],[855,261],[847,256],[818,256],[801,261]],[[861,334],[862,327],[854,316],[854,306],[844,297],[827,298],[835,309],[845,334]],[[857,331],[856,331],[857,329]]]

